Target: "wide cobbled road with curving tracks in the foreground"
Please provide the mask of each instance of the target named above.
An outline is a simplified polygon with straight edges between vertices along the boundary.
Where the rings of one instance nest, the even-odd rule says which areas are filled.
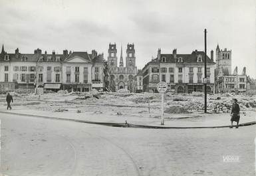
[[[255,126],[112,128],[0,114],[6,175],[255,175]],[[223,156],[239,162],[223,162]]]

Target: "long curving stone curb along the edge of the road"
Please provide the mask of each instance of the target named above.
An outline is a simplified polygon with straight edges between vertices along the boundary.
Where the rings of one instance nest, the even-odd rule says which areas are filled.
[[[2,114],[13,114],[19,116],[29,116],[33,118],[45,118],[45,119],[52,119],[52,120],[64,120],[70,122],[79,122],[85,124],[97,124],[102,126],[112,126],[112,127],[122,127],[122,128],[151,128],[151,129],[199,129],[199,128],[229,128],[230,126],[188,126],[188,127],[178,127],[178,126],[146,126],[146,125],[136,125],[136,124],[125,124],[125,123],[112,123],[112,122],[93,122],[87,120],[76,120],[76,119],[69,119],[69,118],[56,118],[51,116],[38,116],[32,114],[21,114],[17,112],[3,112],[0,111]],[[246,122],[243,124],[239,124],[239,126],[253,126],[256,122]]]

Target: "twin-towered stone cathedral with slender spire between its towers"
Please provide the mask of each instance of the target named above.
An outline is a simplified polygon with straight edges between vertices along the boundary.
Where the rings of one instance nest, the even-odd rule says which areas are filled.
[[[116,91],[125,88],[127,90],[130,90],[130,92],[134,92],[134,77],[137,74],[134,44],[127,44],[125,66],[122,53],[122,46],[119,66],[118,57],[116,54],[116,43],[110,43],[108,48],[108,70],[110,74],[111,90]]]

